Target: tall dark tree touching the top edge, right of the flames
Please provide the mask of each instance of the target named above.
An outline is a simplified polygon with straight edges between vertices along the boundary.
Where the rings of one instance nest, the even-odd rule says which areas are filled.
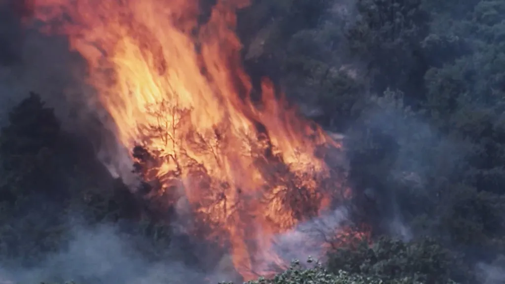
[[[359,0],[357,9],[360,17],[347,39],[351,51],[368,63],[374,90],[389,87],[421,96],[419,77],[426,71],[421,43],[430,20],[421,0]]]

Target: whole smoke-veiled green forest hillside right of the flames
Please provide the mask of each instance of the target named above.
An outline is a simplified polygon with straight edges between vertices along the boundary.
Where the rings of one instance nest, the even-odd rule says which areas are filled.
[[[381,231],[401,216],[458,256],[465,281],[505,241],[504,5],[358,1],[356,21],[291,36],[283,61],[296,98],[347,134],[360,218]]]

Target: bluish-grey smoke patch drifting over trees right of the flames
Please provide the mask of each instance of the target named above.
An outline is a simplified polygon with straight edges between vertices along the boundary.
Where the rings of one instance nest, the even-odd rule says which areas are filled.
[[[396,238],[410,241],[419,233],[429,232],[406,225],[412,220],[407,222],[403,212],[422,211],[423,206],[431,203],[434,196],[426,187],[429,179],[448,175],[462,166],[468,148],[461,141],[437,133],[415,115],[403,104],[401,92],[386,91],[381,97],[372,95],[367,104],[357,125],[346,133],[349,155],[383,149],[382,164],[375,170],[382,179],[395,185],[394,190],[381,188],[383,185],[372,177],[366,184],[365,195],[382,210],[385,219],[380,220],[381,226]],[[382,137],[383,141],[375,141],[372,135]]]

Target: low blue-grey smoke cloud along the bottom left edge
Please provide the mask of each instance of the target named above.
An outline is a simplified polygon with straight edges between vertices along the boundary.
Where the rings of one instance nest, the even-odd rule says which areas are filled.
[[[176,244],[175,244],[176,245]],[[138,242],[121,233],[116,226],[75,225],[68,245],[48,254],[36,268],[2,267],[0,280],[14,283],[41,281],[76,281],[80,283],[200,283],[203,274],[188,267],[180,255],[163,261],[150,261]],[[168,248],[168,255],[181,254]]]

